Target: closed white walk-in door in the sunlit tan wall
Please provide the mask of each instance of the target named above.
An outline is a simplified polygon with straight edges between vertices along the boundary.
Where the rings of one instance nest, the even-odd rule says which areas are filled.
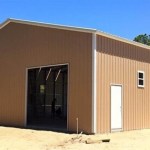
[[[122,129],[122,86],[111,86],[111,130]]]

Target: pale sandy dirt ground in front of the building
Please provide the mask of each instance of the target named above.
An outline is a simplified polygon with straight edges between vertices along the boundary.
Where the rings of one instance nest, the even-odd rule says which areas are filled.
[[[100,142],[110,139],[110,142]],[[86,144],[86,141],[97,142]],[[76,135],[0,127],[0,150],[149,150],[150,129]]]

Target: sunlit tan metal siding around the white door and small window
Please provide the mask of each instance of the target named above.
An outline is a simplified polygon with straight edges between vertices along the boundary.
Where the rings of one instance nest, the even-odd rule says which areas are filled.
[[[150,128],[150,51],[97,35],[97,130],[110,132],[110,85],[123,85],[123,130]],[[137,71],[145,88],[137,87]]]

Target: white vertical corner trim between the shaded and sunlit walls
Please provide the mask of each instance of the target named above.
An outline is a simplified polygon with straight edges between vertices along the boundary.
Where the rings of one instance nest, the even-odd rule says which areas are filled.
[[[96,33],[92,34],[92,133],[97,133],[96,106]]]

